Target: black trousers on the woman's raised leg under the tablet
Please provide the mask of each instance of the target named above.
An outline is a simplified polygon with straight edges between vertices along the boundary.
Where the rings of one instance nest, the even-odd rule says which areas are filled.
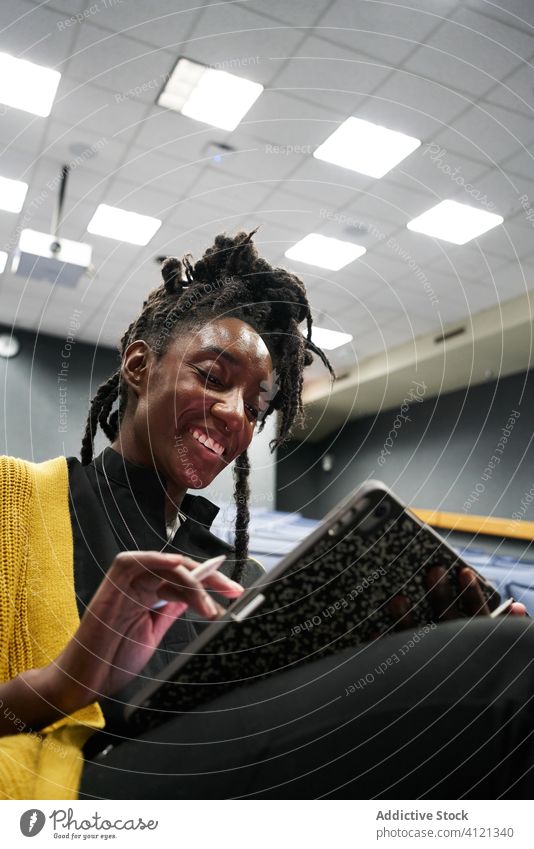
[[[402,631],[86,762],[81,799],[534,796],[534,620]]]

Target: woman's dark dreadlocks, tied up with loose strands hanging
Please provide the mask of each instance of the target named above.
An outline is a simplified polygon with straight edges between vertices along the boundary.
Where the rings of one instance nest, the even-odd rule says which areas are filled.
[[[267,416],[278,410],[278,433],[271,450],[285,442],[292,428],[303,421],[303,370],[316,354],[334,372],[323,351],[311,339],[312,316],[303,282],[283,268],[273,268],[258,256],[252,233],[219,235],[202,259],[194,265],[167,258],[161,267],[163,283],[148,295],[139,317],[133,321],[120,343],[121,359],[131,342],[142,339],[159,359],[173,337],[203,320],[219,317],[240,318],[264,339],[276,373],[276,394],[261,413],[259,429]],[[306,322],[306,335],[299,325]],[[272,393],[270,393],[272,394]],[[118,408],[112,412],[115,402]],[[128,391],[121,382],[121,369],[103,383],[93,398],[82,440],[81,460],[88,465],[98,425],[113,442],[126,412]],[[249,460],[247,452],[234,465],[235,523],[234,578],[242,576],[248,556]]]

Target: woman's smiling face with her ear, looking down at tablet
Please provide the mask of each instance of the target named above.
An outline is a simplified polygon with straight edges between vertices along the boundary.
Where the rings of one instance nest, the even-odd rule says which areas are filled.
[[[273,371],[261,336],[237,318],[179,333],[159,360],[133,343],[125,366],[137,395],[132,459],[180,489],[208,486],[248,447]]]

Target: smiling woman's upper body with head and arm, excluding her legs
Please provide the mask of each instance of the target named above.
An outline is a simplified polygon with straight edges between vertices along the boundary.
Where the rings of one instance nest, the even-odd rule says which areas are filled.
[[[105,739],[126,735],[122,709],[142,683],[136,676],[157,675],[186,648],[201,627],[195,615],[221,612],[206,590],[224,603],[242,592],[237,581],[257,577],[247,553],[247,448],[275,411],[272,448],[288,438],[312,354],[332,371],[311,341],[302,281],[261,259],[252,234],[218,236],[199,262],[169,258],[162,274],[121,340],[120,367],[91,403],[82,464],[0,464],[0,527],[9,536],[0,734],[4,751],[15,745],[17,754],[0,759],[6,796],[33,798],[46,785],[75,797],[79,746],[103,724],[95,699]],[[93,459],[99,425],[112,445]],[[209,532],[217,508],[187,493],[231,463],[235,547]],[[197,579],[197,560],[221,553],[221,571]],[[43,727],[39,738],[20,733]],[[50,765],[55,736],[65,758]],[[86,757],[104,745],[97,735]]]

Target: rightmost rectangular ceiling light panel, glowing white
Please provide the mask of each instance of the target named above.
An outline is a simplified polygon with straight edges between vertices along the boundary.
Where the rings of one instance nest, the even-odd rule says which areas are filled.
[[[454,245],[465,245],[498,224],[503,218],[493,212],[477,209],[455,200],[443,200],[437,206],[414,218],[406,226],[408,230],[434,236]]]

